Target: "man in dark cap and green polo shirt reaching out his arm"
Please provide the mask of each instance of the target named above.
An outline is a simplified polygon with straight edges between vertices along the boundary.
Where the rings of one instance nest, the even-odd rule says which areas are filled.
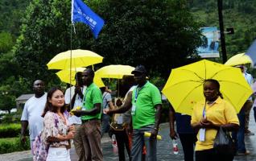
[[[159,89],[147,81],[147,71],[142,65],[138,65],[134,71],[134,79],[138,86],[128,94],[130,100],[126,101],[119,109],[106,111],[107,114],[124,113],[131,108],[133,143],[131,159],[142,160],[142,147],[146,146],[147,161],[156,161],[156,136],[159,130],[162,100]],[[150,132],[151,137],[145,138],[144,132]]]

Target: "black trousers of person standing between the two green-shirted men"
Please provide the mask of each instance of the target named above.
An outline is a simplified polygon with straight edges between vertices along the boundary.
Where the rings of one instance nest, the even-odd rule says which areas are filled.
[[[118,142],[119,161],[126,161],[125,147],[130,160],[129,139],[128,135],[126,134],[126,130],[114,130],[114,134]]]

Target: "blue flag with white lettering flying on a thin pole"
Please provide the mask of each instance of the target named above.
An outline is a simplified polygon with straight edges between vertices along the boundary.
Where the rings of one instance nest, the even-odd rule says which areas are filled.
[[[81,22],[89,25],[96,39],[101,28],[104,26],[104,20],[95,14],[89,6],[86,6],[82,0],[72,0],[71,22],[73,24]]]

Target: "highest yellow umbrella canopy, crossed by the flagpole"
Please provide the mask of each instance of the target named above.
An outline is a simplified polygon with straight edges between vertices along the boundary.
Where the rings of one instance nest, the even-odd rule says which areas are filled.
[[[89,65],[101,63],[103,57],[97,55],[95,52],[88,50],[72,50],[66,52],[60,52],[47,63],[48,69],[67,69],[87,67]],[[70,65],[72,64],[72,65]]]

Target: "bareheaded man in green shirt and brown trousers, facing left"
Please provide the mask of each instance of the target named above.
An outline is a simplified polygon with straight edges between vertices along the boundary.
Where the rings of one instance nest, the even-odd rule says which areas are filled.
[[[94,72],[91,68],[82,72],[82,79],[87,86],[82,110],[73,112],[77,117],[81,116],[81,153],[79,160],[103,160],[101,151],[101,90],[93,83]]]

